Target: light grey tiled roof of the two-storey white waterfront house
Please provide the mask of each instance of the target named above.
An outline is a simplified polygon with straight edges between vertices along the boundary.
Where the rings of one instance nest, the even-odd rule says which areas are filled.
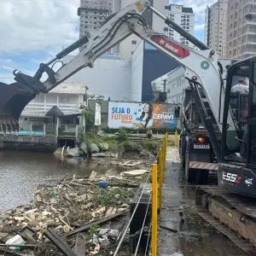
[[[86,84],[65,82],[57,85],[54,89],[49,90],[49,93],[63,93],[63,94],[80,94],[85,95]]]

